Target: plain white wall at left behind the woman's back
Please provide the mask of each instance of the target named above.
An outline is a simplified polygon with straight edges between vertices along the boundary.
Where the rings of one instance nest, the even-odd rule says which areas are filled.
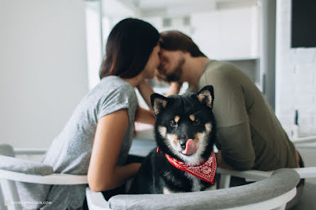
[[[88,90],[84,9],[0,1],[0,142],[49,146]]]

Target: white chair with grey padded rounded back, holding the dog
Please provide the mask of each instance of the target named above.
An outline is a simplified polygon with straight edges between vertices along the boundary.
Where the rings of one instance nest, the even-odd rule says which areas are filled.
[[[219,168],[221,175],[235,175],[259,180],[249,185],[230,187],[206,192],[177,194],[120,194],[109,202],[101,192],[86,188],[89,209],[285,209],[286,203],[295,196],[300,177],[295,170],[280,169],[263,173],[258,171],[237,172]],[[222,179],[222,178],[221,178]],[[225,179],[223,179],[225,180]],[[226,179],[227,180],[227,179]]]

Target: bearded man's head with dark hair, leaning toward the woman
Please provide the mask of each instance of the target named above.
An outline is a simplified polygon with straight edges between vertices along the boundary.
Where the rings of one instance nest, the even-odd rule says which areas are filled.
[[[186,62],[186,53],[191,57],[205,57],[191,37],[178,30],[160,33],[160,66],[159,74],[166,76],[167,81],[179,81]]]

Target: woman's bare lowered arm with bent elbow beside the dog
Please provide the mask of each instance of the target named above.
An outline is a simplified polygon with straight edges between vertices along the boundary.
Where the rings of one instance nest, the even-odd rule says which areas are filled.
[[[126,109],[99,119],[88,169],[88,183],[92,191],[118,187],[135,175],[140,168],[140,163],[116,165],[127,128],[128,110]]]

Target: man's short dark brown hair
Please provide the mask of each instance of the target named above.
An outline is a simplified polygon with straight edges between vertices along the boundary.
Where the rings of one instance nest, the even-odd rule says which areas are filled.
[[[198,49],[198,45],[191,37],[181,33],[179,30],[167,30],[160,33],[160,47],[167,50],[181,50],[189,52],[192,57],[205,57],[205,54]]]

